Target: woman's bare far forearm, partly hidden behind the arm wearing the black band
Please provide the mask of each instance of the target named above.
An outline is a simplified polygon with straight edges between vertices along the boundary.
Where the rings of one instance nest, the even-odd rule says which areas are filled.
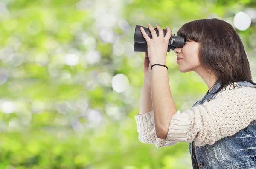
[[[140,94],[139,114],[145,114],[151,112],[152,110],[151,76],[144,75],[142,90]]]

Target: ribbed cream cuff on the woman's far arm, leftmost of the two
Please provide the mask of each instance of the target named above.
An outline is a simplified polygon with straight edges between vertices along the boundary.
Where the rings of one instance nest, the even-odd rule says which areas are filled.
[[[145,114],[137,114],[134,117],[137,123],[137,131],[139,133],[145,131],[148,127],[154,126],[153,110]]]

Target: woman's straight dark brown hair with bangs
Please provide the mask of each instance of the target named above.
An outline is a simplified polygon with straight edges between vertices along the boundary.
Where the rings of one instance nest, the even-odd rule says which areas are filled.
[[[230,23],[217,18],[195,20],[185,23],[177,35],[199,42],[200,64],[208,73],[214,72],[221,82],[215,93],[232,82],[247,81],[256,85],[243,43]]]

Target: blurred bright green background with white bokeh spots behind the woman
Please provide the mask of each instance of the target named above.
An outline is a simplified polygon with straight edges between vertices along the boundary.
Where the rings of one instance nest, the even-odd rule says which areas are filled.
[[[255,0],[1,0],[0,169],[191,169],[187,142],[138,140],[145,53],[136,25],[219,18],[241,37],[256,74]],[[154,26],[153,26],[154,27]],[[167,53],[172,96],[185,111],[208,88]]]

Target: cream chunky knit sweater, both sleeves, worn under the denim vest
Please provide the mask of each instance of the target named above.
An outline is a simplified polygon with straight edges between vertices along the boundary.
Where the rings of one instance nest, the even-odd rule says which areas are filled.
[[[239,87],[223,91],[215,99],[180,113],[170,121],[167,138],[157,138],[154,112],[135,115],[139,141],[157,148],[195,141],[195,146],[212,145],[231,136],[256,120],[256,88]]]

